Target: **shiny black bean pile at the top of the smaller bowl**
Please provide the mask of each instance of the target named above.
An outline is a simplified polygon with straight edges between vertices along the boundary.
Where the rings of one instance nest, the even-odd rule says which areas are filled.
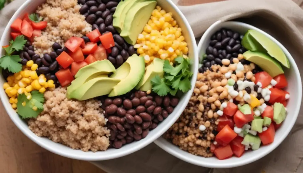
[[[246,49],[241,45],[243,36],[238,32],[222,28],[211,36],[211,42],[206,48],[206,54],[201,62],[199,72],[203,73],[210,69],[212,65],[222,65],[222,59],[237,58],[238,54],[243,54]],[[202,59],[202,58],[201,58]],[[245,59],[241,59],[242,64],[247,64]]]

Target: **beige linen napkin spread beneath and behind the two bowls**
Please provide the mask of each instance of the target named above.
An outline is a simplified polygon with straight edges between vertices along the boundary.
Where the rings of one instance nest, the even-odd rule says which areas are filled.
[[[160,1],[160,0],[159,0]],[[173,0],[177,2],[178,0]],[[219,0],[216,0],[219,1]],[[15,0],[0,12],[0,34],[25,0]],[[178,6],[188,19],[196,38],[218,20],[239,20],[255,25],[277,38],[289,50],[303,76],[303,11],[291,0],[180,0]],[[197,4],[197,5],[193,5]],[[199,16],[197,18],[197,16]],[[292,96],[294,97],[294,96]],[[209,169],[191,165],[169,155],[155,144],[131,155],[92,162],[109,173],[303,173],[303,112],[285,141],[254,163],[230,169]]]

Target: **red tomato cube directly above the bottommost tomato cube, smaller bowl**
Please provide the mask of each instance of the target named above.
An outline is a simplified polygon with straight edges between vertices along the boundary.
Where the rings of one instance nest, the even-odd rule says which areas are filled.
[[[229,142],[231,142],[233,139],[237,137],[237,134],[233,129],[231,129],[228,125],[225,125],[224,128],[222,128],[221,131],[216,135],[216,141],[219,145],[227,145]]]

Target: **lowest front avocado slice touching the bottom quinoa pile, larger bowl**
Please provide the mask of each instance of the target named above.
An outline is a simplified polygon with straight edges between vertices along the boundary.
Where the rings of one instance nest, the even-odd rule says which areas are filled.
[[[108,78],[107,75],[100,75],[78,87],[69,95],[69,98],[75,98],[81,101],[107,95],[119,82],[119,79]]]

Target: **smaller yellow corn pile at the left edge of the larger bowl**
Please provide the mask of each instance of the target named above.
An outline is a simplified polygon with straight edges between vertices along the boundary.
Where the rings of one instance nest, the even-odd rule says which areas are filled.
[[[46,88],[49,90],[55,89],[53,80],[48,80],[45,75],[37,75],[37,64],[34,64],[32,60],[24,65],[21,72],[8,76],[7,81],[3,84],[5,93],[10,97],[9,102],[12,104],[12,108],[17,108],[18,95],[25,94],[27,99],[31,99],[31,91],[37,90],[40,93],[44,93]]]

